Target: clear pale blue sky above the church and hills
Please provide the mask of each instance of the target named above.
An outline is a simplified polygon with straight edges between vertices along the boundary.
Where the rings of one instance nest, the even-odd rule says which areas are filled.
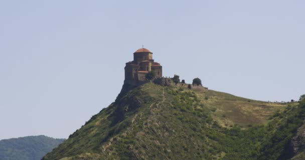
[[[304,0],[0,0],[0,139],[67,138],[142,44],[164,76],[258,100],[305,93]]]

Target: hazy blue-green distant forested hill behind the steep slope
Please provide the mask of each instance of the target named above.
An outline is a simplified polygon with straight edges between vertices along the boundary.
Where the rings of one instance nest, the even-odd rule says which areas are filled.
[[[0,140],[1,160],[36,160],[41,159],[47,152],[64,139],[55,139],[44,135],[25,136]]]

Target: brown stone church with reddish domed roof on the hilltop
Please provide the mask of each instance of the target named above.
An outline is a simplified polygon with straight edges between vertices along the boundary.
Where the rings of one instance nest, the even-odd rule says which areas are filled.
[[[145,81],[145,75],[155,71],[156,77],[162,77],[162,65],[155,62],[153,52],[146,48],[137,49],[133,53],[133,60],[126,63],[124,83],[138,85]]]

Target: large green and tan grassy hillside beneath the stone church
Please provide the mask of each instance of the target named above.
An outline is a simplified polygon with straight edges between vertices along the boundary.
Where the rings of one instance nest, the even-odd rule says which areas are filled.
[[[124,85],[115,102],[43,159],[269,160],[305,154],[305,100],[268,103],[180,85]]]

